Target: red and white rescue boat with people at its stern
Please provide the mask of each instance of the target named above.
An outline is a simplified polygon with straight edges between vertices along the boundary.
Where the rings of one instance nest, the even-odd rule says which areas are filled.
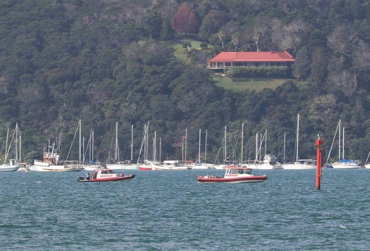
[[[99,169],[95,170],[94,173],[91,175],[88,173],[85,176],[81,176],[77,178],[78,182],[105,182],[105,181],[123,181],[133,179],[135,177],[134,174],[121,175],[115,173],[111,169]]]

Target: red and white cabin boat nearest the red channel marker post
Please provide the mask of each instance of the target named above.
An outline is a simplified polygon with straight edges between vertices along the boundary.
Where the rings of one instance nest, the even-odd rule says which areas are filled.
[[[207,175],[199,176],[198,182],[202,183],[244,183],[244,182],[262,182],[267,180],[266,175],[256,176],[250,174],[251,168],[246,167],[231,167],[226,168],[226,173],[224,177]]]

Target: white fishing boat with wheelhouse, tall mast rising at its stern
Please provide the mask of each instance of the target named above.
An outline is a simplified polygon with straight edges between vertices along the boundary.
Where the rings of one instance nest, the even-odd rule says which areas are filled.
[[[83,170],[81,161],[81,120],[78,123],[74,138],[76,137],[77,130],[80,128],[80,146],[79,146],[79,160],[78,161],[62,161],[60,160],[58,149],[55,149],[55,143],[53,143],[50,152],[50,141],[48,144],[48,151],[44,152],[42,160],[34,160],[34,164],[30,170],[36,172],[80,172]],[[74,139],[73,138],[73,139]],[[73,141],[72,141],[73,144]],[[58,147],[59,148],[59,147]],[[71,145],[72,148],[72,145]],[[68,153],[69,155],[69,153]],[[67,155],[67,159],[68,159]]]

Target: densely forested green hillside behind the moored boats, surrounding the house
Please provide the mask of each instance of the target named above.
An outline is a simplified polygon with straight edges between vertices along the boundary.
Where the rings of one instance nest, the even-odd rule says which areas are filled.
[[[202,149],[208,130],[207,160],[213,162],[224,127],[233,151],[244,122],[245,151],[251,158],[254,135],[265,128],[267,152],[282,156],[286,132],[287,156],[293,158],[299,113],[300,157],[315,155],[317,134],[328,153],[342,119],[347,158],[364,161],[370,151],[366,4],[366,0],[1,0],[1,152],[6,128],[18,122],[29,159],[40,157],[47,139],[59,141],[60,132],[65,157],[81,119],[85,138],[95,130],[104,161],[116,122],[121,153],[129,158],[133,125],[136,160],[149,121],[149,138],[154,131],[157,142],[161,138],[162,159],[181,159],[186,128],[188,159],[197,159],[201,128]],[[261,51],[287,49],[296,59],[292,69],[296,81],[261,92],[225,91],[215,86],[213,72],[196,60],[174,56],[163,42],[174,39],[174,32],[207,42],[210,57],[227,50],[257,51],[257,46]],[[77,157],[76,143],[72,158]]]

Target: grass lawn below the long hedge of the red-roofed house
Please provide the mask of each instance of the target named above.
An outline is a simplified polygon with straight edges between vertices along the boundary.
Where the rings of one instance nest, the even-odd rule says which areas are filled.
[[[214,77],[216,85],[227,90],[245,91],[247,89],[261,91],[263,88],[275,89],[276,86],[282,85],[287,79],[261,79],[246,82],[234,82],[228,77]]]

